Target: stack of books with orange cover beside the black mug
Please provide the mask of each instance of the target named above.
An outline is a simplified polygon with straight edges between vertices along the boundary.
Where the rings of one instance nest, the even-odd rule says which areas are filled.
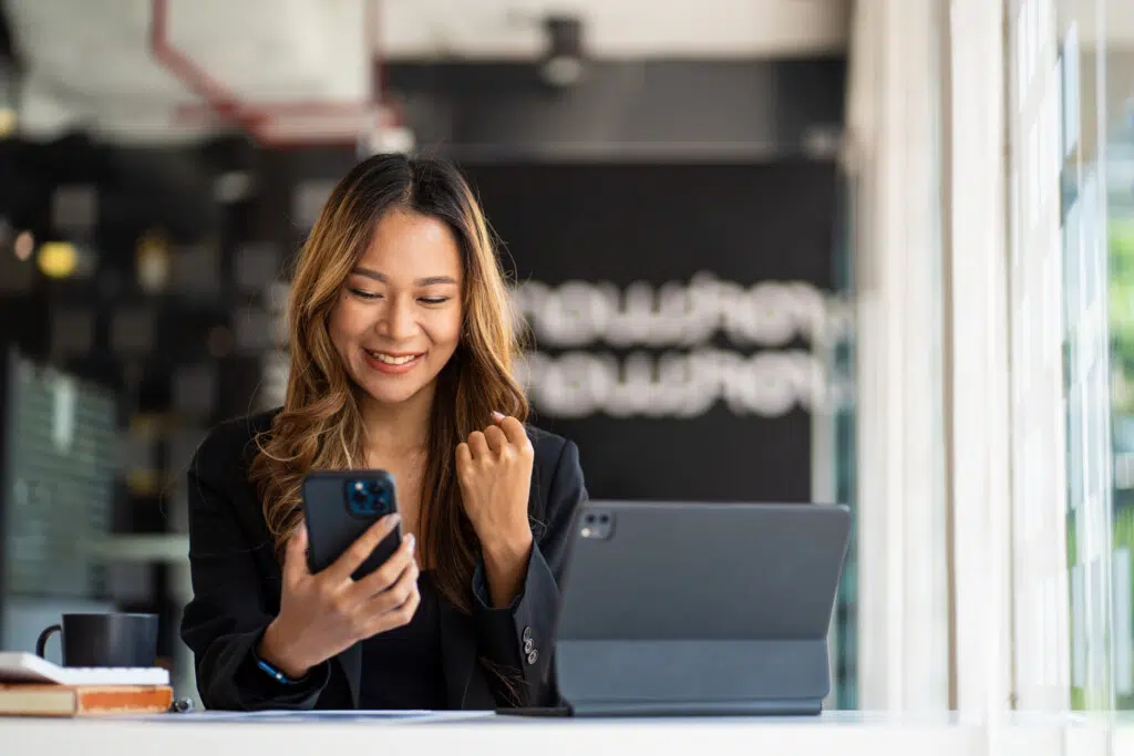
[[[59,666],[0,652],[0,716],[91,716],[169,711],[174,690],[161,668]]]

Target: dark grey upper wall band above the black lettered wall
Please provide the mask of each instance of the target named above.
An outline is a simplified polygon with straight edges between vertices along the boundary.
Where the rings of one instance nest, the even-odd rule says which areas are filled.
[[[840,129],[845,77],[841,58],[596,62],[567,88],[527,63],[387,71],[418,143],[469,158],[795,154]]]

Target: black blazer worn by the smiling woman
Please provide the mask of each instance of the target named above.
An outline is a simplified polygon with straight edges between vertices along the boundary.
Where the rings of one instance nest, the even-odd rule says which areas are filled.
[[[253,439],[270,428],[273,415],[219,425],[189,465],[193,601],[185,608],[181,638],[193,651],[208,708],[357,708],[359,644],[297,686],[278,683],[255,665],[252,652],[279,611],[282,576],[248,466],[256,453]],[[558,584],[586,489],[574,443],[531,427],[528,435],[535,447],[528,499],[534,544],[522,594],[510,608],[490,609],[477,567],[469,586],[472,614],[441,598],[440,653],[451,708],[559,703],[551,669]]]

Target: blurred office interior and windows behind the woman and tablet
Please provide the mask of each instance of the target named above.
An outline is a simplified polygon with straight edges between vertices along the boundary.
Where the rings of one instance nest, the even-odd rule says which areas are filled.
[[[0,647],[153,611],[195,694],[186,464],[408,150],[593,498],[852,508],[830,707],[1134,707],[1132,8],[0,0]]]

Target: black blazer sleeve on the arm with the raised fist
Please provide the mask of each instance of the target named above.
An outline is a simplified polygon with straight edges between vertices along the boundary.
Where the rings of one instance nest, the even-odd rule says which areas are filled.
[[[551,652],[559,611],[559,581],[567,561],[572,523],[587,499],[578,448],[566,441],[551,476],[542,528],[533,540],[523,589],[510,606],[492,609],[483,562],[473,576],[473,613],[481,653],[502,678],[503,706],[558,704]],[[491,676],[491,677],[496,677]]]

